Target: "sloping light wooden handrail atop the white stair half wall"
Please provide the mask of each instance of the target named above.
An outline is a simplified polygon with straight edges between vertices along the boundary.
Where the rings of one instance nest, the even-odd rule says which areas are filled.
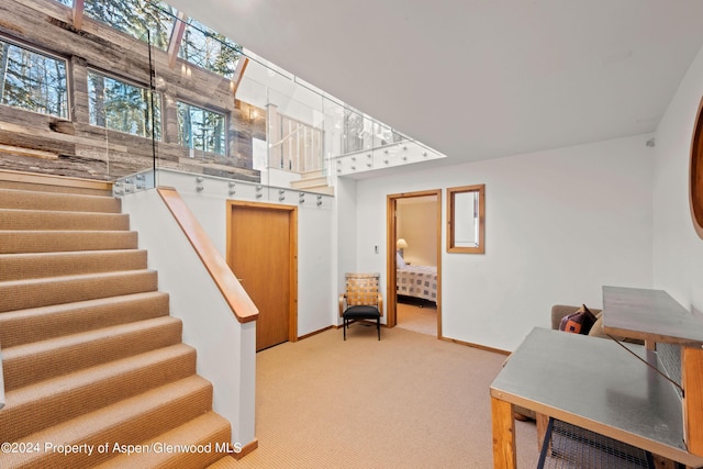
[[[198,253],[198,257],[210,272],[225,301],[239,323],[256,321],[258,309],[220,255],[212,241],[193,216],[183,199],[174,188],[158,188],[159,196],[168,206],[186,237]]]

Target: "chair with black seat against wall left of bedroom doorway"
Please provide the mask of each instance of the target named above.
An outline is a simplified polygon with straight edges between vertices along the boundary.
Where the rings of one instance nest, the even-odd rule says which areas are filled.
[[[339,315],[344,320],[342,328],[347,339],[349,322],[376,320],[378,339],[381,339],[381,316],[383,298],[379,291],[379,273],[346,273],[346,292],[339,295]],[[346,303],[346,304],[345,304]]]

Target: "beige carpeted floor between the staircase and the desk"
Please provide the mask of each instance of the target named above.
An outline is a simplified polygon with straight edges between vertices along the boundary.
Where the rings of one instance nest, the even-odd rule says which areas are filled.
[[[489,387],[505,356],[394,327],[330,330],[257,355],[242,468],[491,468]],[[516,423],[518,466],[535,425]]]

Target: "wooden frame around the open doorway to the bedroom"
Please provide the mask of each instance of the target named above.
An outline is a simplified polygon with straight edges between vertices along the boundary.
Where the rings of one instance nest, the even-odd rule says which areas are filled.
[[[386,272],[386,278],[388,279],[386,286],[386,325],[388,327],[394,327],[395,324],[398,324],[398,293],[395,289],[395,239],[398,239],[398,200],[427,196],[437,197],[437,221],[435,224],[435,230],[437,232],[437,338],[442,338],[442,189],[393,193],[387,196],[386,198],[386,233],[388,234],[386,239],[386,254],[388,256],[386,261],[386,266],[388,268],[388,271]]]

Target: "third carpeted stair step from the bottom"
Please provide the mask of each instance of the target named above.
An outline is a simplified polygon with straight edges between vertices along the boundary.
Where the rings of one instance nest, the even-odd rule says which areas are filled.
[[[8,391],[0,439],[20,439],[194,373],[196,350],[176,344]]]

